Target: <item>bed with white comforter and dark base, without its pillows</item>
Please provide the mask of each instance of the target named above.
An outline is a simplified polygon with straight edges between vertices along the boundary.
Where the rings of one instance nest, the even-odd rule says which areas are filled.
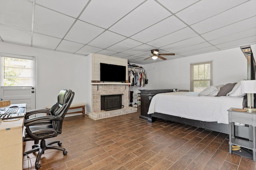
[[[161,118],[228,134],[227,110],[230,107],[243,108],[246,104],[246,96],[215,96],[216,94],[198,96],[198,94],[198,92],[156,94],[150,102],[148,122]]]

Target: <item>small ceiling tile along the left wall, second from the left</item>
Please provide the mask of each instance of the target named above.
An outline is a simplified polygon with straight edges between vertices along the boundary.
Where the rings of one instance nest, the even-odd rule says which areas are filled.
[[[33,33],[33,46],[43,47],[47,49],[56,49],[61,39]]]

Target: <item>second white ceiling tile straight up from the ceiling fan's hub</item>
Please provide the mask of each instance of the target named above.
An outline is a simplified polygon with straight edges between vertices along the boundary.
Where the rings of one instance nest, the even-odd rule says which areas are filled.
[[[178,20],[175,16],[170,16],[169,18],[133,35],[131,38],[141,42],[149,42],[184,27],[186,27],[185,23]]]

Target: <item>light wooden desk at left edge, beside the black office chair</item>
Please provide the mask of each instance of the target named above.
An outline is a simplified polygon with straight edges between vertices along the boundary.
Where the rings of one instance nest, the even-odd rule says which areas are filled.
[[[25,106],[26,104],[12,104],[11,106]],[[8,106],[10,107],[10,106]],[[7,107],[7,108],[8,108]],[[4,107],[1,107],[3,109]],[[26,112],[26,109],[24,109]],[[23,169],[23,125],[24,118],[2,120],[0,123],[0,169]]]

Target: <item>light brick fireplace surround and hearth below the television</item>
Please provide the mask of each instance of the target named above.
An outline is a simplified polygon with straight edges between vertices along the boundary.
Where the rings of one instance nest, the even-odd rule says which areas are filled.
[[[124,108],[104,111],[101,110],[101,96],[122,94]],[[129,86],[127,84],[92,84],[92,112],[89,117],[96,120],[116,115],[133,113],[136,107],[129,107]]]

